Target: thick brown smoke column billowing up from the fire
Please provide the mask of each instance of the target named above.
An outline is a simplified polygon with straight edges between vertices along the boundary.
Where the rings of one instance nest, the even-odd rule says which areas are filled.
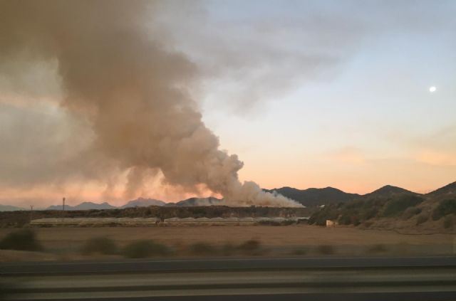
[[[195,65],[144,26],[153,16],[150,2],[0,3],[1,59],[57,61],[63,107],[88,119],[92,154],[129,171],[127,189],[147,170],[160,169],[168,184],[204,184],[228,205],[301,206],[239,182],[242,162],[219,150],[189,96]]]

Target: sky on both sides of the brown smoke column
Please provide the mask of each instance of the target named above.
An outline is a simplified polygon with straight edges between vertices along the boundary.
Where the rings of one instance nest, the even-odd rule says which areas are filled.
[[[455,1],[155,5],[147,35],[195,65],[189,93],[221,149],[244,163],[241,181],[358,194],[456,181]],[[0,172],[0,204],[58,204],[63,194],[70,204],[123,204],[122,179],[59,181],[50,172],[28,180],[34,165],[52,166],[62,148],[78,152],[93,137],[73,141],[86,125],[61,107],[56,60],[16,63],[0,63],[0,142],[8,145],[0,162],[11,167]],[[145,186],[131,197],[212,194],[163,185],[160,175]]]

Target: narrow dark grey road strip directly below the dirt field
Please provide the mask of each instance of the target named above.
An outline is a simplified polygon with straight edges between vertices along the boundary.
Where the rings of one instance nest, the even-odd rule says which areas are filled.
[[[170,272],[189,270],[290,270],[318,268],[455,267],[456,256],[385,258],[212,258],[170,260],[0,263],[0,275]]]

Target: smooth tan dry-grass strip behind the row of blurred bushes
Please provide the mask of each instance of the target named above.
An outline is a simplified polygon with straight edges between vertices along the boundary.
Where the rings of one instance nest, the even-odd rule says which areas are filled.
[[[15,231],[0,228],[0,239]],[[351,227],[323,228],[319,226],[199,226],[199,227],[147,227],[147,228],[36,228],[38,240],[44,248],[61,245],[68,247],[82,245],[93,237],[108,237],[125,245],[140,239],[153,239],[168,245],[192,244],[207,241],[213,245],[227,242],[240,244],[250,239],[263,245],[374,245],[407,242],[447,243],[454,236],[450,234],[402,235],[394,231],[360,230]]]

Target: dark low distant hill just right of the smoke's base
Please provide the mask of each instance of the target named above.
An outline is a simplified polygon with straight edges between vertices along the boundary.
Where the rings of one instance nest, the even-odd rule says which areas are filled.
[[[348,194],[333,187],[309,188],[304,190],[292,187],[282,187],[278,189],[264,189],[264,191],[270,193],[276,191],[278,194],[298,201],[306,207],[337,204],[340,202],[351,201],[360,196],[359,194]]]

